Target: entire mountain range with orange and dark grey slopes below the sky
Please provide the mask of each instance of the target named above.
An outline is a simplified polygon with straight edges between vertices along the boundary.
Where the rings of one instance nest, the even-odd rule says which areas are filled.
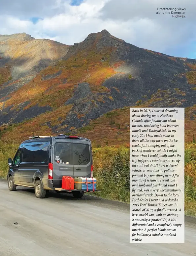
[[[80,133],[123,144],[129,106],[186,107],[187,124],[195,122],[196,60],[139,48],[107,30],[73,46],[0,36],[0,51],[0,125],[15,123],[23,136]],[[187,140],[193,132],[194,125]]]

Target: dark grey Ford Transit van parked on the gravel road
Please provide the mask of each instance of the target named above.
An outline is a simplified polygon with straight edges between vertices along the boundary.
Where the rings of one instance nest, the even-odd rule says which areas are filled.
[[[63,134],[30,137],[21,143],[8,164],[10,191],[15,191],[16,186],[35,188],[38,198],[44,198],[51,190],[68,192],[61,189],[63,176],[91,178],[93,175],[91,142]],[[77,198],[84,194],[75,190],[71,193]]]

